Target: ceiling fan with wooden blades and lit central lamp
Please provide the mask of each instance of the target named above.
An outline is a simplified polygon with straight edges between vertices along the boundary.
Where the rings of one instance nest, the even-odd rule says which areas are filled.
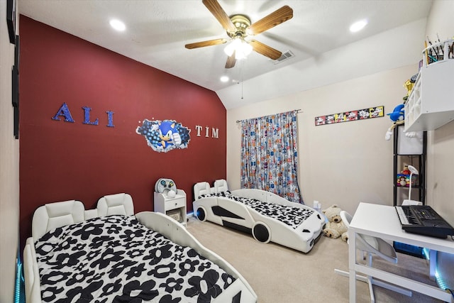
[[[258,35],[291,19],[293,17],[293,9],[289,6],[282,6],[277,11],[270,13],[259,21],[250,23],[248,16],[243,14],[228,16],[216,0],[203,0],[202,3],[209,9],[218,22],[221,23],[221,26],[226,30],[227,35],[232,40],[231,44],[227,45],[225,50],[228,55],[226,68],[234,67],[236,60],[245,57],[252,50],[272,60],[277,60],[282,55],[279,50],[275,50],[257,40],[246,40],[245,38]],[[184,45],[184,47],[188,49],[204,48],[206,46],[224,44],[227,41],[228,39],[220,38],[189,43]]]

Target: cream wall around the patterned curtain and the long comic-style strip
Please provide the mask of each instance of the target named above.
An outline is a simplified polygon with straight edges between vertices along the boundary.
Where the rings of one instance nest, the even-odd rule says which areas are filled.
[[[402,103],[403,84],[417,71],[415,64],[229,110],[229,186],[240,187],[240,128],[235,121],[301,109],[299,184],[305,203],[319,200],[322,208],[338,204],[351,213],[358,202],[392,205],[393,144],[384,140],[392,121],[385,116],[315,126],[314,118],[381,105],[389,113]]]

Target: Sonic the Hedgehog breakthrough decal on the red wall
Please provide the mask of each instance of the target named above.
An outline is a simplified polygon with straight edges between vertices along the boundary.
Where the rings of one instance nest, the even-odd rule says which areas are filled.
[[[175,148],[187,148],[191,137],[191,130],[177,123],[175,120],[143,120],[142,126],[135,129],[135,133],[145,137],[148,146],[157,152],[167,153]]]

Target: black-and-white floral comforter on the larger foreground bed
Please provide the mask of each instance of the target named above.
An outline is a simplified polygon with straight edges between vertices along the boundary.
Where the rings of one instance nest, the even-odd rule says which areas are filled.
[[[134,216],[56,228],[35,249],[43,302],[211,302],[235,280]]]

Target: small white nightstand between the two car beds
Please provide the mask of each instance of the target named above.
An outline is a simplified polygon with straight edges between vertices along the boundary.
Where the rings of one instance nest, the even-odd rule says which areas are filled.
[[[182,189],[177,189],[177,194],[173,198],[167,197],[165,194],[155,192],[155,205],[156,212],[166,214],[179,221],[179,223],[186,226],[186,193]]]

